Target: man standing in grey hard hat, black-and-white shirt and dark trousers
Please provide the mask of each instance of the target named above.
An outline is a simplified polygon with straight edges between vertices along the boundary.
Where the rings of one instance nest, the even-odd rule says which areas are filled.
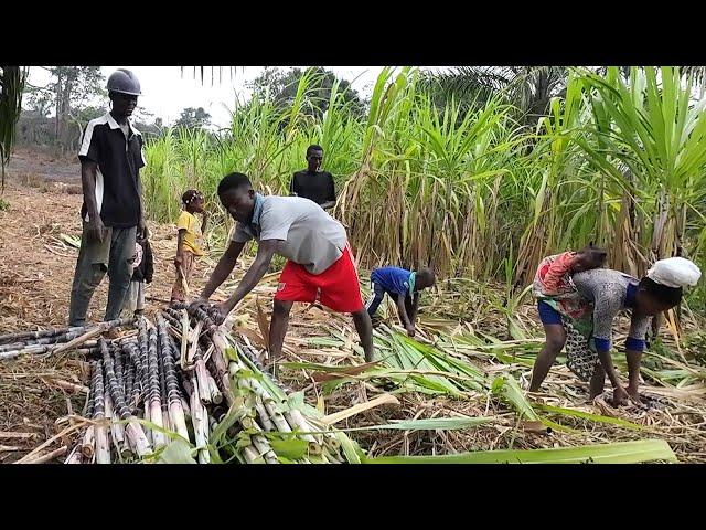
[[[69,326],[83,326],[93,293],[106,273],[105,320],[119,318],[132,276],[136,234],[147,235],[139,170],[145,167],[142,135],[129,117],[141,94],[129,70],[108,78],[111,109],[86,126],[78,159],[84,190],[83,233],[71,290]]]

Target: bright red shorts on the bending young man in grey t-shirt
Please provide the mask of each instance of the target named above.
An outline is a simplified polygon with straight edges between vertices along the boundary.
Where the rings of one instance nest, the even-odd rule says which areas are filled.
[[[303,265],[287,261],[275,299],[313,304],[317,296],[321,304],[336,312],[363,309],[361,285],[347,246],[341,257],[321,274],[311,274]]]

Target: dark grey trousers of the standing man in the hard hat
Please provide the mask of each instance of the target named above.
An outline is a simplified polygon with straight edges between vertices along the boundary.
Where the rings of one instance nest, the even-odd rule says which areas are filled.
[[[88,223],[84,221],[81,250],[76,261],[71,289],[69,326],[84,326],[86,312],[96,287],[108,273],[108,305],[104,320],[120,318],[120,311],[132,277],[135,235],[137,226],[114,229],[106,226],[103,242],[88,237]]]

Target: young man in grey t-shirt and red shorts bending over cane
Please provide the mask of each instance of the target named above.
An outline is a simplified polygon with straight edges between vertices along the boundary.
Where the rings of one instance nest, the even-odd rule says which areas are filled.
[[[218,184],[218,198],[237,221],[231,243],[194,304],[208,297],[228,277],[245,244],[257,241],[257,256],[235,293],[217,309],[217,324],[258,284],[275,254],[287,258],[275,295],[269,329],[269,352],[276,360],[282,348],[289,311],[295,301],[321,304],[350,312],[365,351],[373,360],[373,327],[363,305],[345,229],[319,204],[299,197],[263,197],[247,176],[231,173]]]

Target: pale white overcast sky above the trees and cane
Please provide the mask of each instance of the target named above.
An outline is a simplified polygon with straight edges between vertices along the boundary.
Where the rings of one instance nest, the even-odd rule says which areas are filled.
[[[289,66],[279,66],[289,68]],[[304,68],[306,66],[300,66]],[[117,68],[131,70],[140,82],[142,96],[138,107],[161,117],[165,125],[179,118],[185,107],[203,107],[211,115],[212,123],[217,127],[229,125],[228,108],[234,107],[236,94],[240,99],[249,98],[250,91],[245,86],[265,70],[264,66],[237,66],[231,78],[231,68],[224,67],[223,77],[218,82],[218,68],[214,68],[215,80],[211,80],[211,67],[204,67],[204,80],[201,82],[200,68],[196,67],[195,77],[193,66],[185,66],[182,75],[180,66],[101,66],[106,80]],[[352,83],[352,87],[362,97],[372,93],[375,80],[383,66],[324,66],[336,76]],[[45,86],[50,82],[50,74],[45,70],[33,66],[30,68],[29,83],[34,86]],[[106,102],[106,109],[107,109]]]

